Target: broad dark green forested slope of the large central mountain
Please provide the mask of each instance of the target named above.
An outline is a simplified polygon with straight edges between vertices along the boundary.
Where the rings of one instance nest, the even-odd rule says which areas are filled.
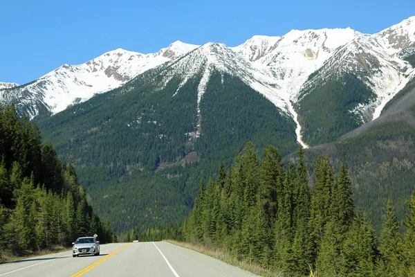
[[[199,115],[200,78],[178,90],[179,80],[163,85],[163,75],[147,71],[39,121],[115,231],[182,222],[201,175],[214,175],[220,161],[230,166],[246,141],[283,154],[297,148],[293,120],[231,75],[212,73]]]

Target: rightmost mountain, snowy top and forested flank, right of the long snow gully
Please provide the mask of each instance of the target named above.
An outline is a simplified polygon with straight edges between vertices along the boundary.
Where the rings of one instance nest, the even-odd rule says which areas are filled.
[[[415,20],[408,19],[380,34],[407,24],[415,26]],[[304,139],[311,145],[338,139],[378,118],[387,102],[415,75],[407,57],[400,54],[408,48],[391,51],[397,44],[378,37],[356,35],[302,84],[296,107],[300,124],[304,125]],[[415,33],[404,33],[398,40],[400,45],[412,47]]]

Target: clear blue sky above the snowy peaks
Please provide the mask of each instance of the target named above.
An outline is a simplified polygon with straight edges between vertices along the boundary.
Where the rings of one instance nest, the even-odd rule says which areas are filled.
[[[291,29],[378,33],[412,15],[414,0],[1,0],[0,82],[24,84],[116,48],[154,53],[176,40],[237,46]]]

